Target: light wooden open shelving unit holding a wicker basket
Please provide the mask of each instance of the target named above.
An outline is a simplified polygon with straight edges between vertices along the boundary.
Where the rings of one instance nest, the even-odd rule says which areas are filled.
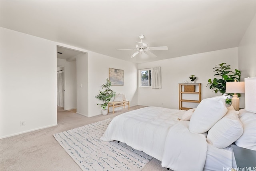
[[[195,85],[196,92],[185,92],[185,85]],[[189,95],[185,95],[189,94]],[[184,95],[184,97],[182,97]],[[198,99],[198,100],[192,100],[192,99]],[[201,101],[201,83],[194,83],[194,84],[179,84],[179,109],[180,110],[188,110],[191,109],[191,105],[189,103],[200,103]],[[183,102],[187,102],[182,104]],[[184,107],[182,105],[190,105],[190,107]]]

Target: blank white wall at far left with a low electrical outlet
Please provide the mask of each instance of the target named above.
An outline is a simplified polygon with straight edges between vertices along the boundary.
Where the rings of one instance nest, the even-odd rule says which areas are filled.
[[[54,42],[0,30],[0,137],[57,125]],[[21,127],[20,121],[25,126]]]

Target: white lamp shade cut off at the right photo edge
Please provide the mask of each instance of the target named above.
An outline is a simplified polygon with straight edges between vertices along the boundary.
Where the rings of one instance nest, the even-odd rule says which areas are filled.
[[[245,109],[256,113],[256,77],[245,78]]]

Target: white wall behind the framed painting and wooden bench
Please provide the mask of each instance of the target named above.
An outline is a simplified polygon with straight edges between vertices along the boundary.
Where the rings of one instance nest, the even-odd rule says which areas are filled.
[[[124,70],[124,85],[112,85],[111,89],[117,93],[126,93],[130,106],[137,105],[137,64],[93,52],[88,54],[88,64],[89,117],[102,113],[100,105],[96,105],[100,101],[95,96],[102,90],[101,85],[106,83],[108,68]]]

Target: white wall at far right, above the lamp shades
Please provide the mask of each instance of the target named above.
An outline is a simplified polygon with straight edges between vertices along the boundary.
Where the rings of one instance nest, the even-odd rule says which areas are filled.
[[[256,14],[238,46],[238,68],[242,81],[256,76]]]

